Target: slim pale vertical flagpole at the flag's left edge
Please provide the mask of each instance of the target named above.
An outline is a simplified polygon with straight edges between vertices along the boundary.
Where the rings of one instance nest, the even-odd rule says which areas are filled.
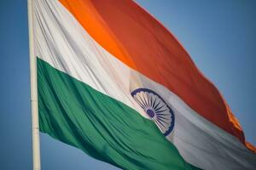
[[[28,32],[29,32],[29,58],[30,58],[30,84],[31,84],[31,110],[32,110],[32,164],[33,170],[41,169],[40,139],[38,123],[38,80],[37,58],[34,54],[33,10],[34,0],[27,0]]]

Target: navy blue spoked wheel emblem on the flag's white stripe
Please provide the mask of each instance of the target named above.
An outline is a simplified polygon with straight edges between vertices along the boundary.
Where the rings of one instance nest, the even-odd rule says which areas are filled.
[[[172,132],[174,113],[159,94],[148,88],[137,88],[131,93],[131,96],[165,136]]]

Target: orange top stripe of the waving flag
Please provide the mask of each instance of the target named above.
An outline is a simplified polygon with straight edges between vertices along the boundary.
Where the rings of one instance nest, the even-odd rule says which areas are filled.
[[[79,23],[116,58],[159,82],[201,116],[245,144],[239,122],[218,89],[196,68],[164,26],[130,0],[61,0]]]

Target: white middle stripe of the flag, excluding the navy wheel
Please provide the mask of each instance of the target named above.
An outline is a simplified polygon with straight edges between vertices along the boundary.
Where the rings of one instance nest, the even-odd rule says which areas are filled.
[[[38,0],[35,9],[36,54],[92,88],[148,115],[131,97],[136,88],[149,88],[175,113],[167,139],[189,163],[204,169],[255,169],[256,157],[241,142],[208,122],[177,95],[109,54],[84,31],[72,14],[55,0]],[[172,158],[170,158],[172,159]]]

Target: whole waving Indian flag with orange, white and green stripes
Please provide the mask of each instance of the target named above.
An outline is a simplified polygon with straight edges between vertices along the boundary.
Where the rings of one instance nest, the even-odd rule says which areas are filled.
[[[123,169],[256,168],[218,89],[137,3],[35,0],[32,23],[42,133]]]

